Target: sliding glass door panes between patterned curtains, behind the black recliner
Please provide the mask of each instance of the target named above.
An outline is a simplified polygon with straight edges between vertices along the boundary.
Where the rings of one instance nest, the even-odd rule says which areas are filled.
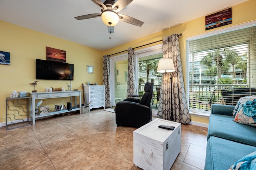
[[[138,92],[144,91],[144,84],[147,81],[153,82],[159,86],[159,77],[156,72],[158,60],[162,58],[162,44],[147,47],[134,51],[135,72],[136,72],[136,88]],[[149,64],[154,63],[155,66]],[[154,67],[154,68],[153,68]],[[150,68],[150,70],[148,70]],[[110,57],[110,91],[111,104],[116,106],[117,102],[127,98],[127,70],[128,69],[128,53],[115,57]],[[156,93],[154,87],[154,93]],[[154,101],[154,104],[156,100]]]

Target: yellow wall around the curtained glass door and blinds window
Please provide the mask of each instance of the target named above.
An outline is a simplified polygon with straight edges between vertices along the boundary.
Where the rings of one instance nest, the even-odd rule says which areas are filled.
[[[195,20],[188,21],[186,23],[182,23],[182,24],[176,25],[174,27],[170,27],[170,28],[160,31],[158,33],[154,33],[152,35],[148,35],[146,37],[137,39],[135,41],[120,45],[118,47],[114,47],[109,50],[106,50],[106,51],[104,51],[104,55],[106,55],[106,54],[110,55],[110,54],[117,53],[119,51],[124,51],[124,50],[128,49],[128,47],[138,47],[141,45],[152,43],[154,41],[161,40],[161,39],[163,39],[163,37],[172,35],[174,33],[178,33],[178,34],[182,33],[182,36],[179,38],[180,55],[181,55],[181,60],[182,60],[183,76],[184,76],[184,80],[186,80],[186,75],[185,75],[186,74],[186,38],[192,37],[195,35],[200,35],[203,33],[207,33],[210,31],[215,31],[217,29],[223,29],[226,27],[238,25],[238,24],[245,23],[248,21],[254,21],[254,20],[256,20],[255,7],[256,7],[256,0],[249,0],[242,4],[232,6],[232,24],[230,24],[230,25],[225,25],[225,26],[222,26],[222,27],[219,27],[216,29],[211,29],[211,30],[205,31],[205,16],[202,16],[201,18],[197,18]],[[153,45],[156,45],[156,44],[153,44]],[[195,116],[192,116],[192,121],[208,123],[208,119],[205,119],[205,118],[202,119],[200,117],[195,117]]]

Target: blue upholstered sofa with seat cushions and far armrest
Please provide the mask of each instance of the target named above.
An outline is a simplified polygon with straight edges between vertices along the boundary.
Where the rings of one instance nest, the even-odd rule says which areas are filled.
[[[228,170],[240,158],[256,151],[256,128],[234,122],[234,107],[212,105],[205,170]]]

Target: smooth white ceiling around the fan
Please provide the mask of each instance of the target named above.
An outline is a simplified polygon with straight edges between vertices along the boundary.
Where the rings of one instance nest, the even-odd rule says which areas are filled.
[[[91,0],[0,0],[0,20],[104,51],[245,1],[133,0],[120,13],[144,24],[119,21],[111,39],[100,17],[74,18],[101,12]]]

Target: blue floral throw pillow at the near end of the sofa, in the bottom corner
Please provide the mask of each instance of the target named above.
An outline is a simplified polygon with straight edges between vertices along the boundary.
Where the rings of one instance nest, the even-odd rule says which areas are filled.
[[[255,169],[256,169],[256,151],[238,160],[228,170],[255,170]]]

